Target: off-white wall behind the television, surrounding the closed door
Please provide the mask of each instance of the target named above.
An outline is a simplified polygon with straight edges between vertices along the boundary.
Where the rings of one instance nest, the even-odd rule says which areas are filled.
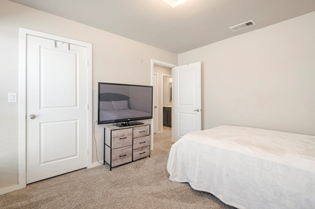
[[[18,92],[19,27],[93,44],[93,121],[98,81],[151,85],[151,59],[177,63],[177,54],[0,0],[0,191],[18,183],[18,103],[7,103],[7,93]],[[95,126],[95,138],[102,160],[101,125]],[[93,162],[97,162],[94,140]]]

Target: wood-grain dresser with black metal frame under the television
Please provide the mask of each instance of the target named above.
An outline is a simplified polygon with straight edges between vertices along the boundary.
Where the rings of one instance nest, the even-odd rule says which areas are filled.
[[[150,124],[104,127],[104,164],[113,167],[150,157]]]

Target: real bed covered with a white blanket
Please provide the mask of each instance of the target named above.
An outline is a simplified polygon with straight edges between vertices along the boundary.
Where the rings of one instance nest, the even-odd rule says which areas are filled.
[[[237,126],[190,132],[172,145],[167,171],[239,209],[315,208],[315,136]]]

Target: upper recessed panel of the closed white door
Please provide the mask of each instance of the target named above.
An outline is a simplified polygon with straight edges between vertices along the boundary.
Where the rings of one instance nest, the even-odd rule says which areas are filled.
[[[42,108],[77,106],[76,59],[75,52],[41,49],[40,89]],[[64,69],[67,70],[63,71]],[[56,92],[56,83],[63,91]]]

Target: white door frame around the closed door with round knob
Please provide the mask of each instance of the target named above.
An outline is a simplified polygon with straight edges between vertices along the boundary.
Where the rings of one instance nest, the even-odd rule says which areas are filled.
[[[20,189],[26,186],[26,76],[27,76],[27,65],[26,65],[26,49],[27,49],[27,35],[37,36],[41,38],[47,38],[52,40],[63,40],[67,43],[73,43],[78,46],[86,47],[88,50],[88,62],[87,60],[87,83],[88,83],[88,133],[87,133],[87,168],[93,167],[92,165],[92,44],[56,36],[48,33],[43,33],[27,28],[19,28],[19,93],[18,93],[18,184],[12,188],[13,190]],[[13,191],[12,190],[12,191]]]

